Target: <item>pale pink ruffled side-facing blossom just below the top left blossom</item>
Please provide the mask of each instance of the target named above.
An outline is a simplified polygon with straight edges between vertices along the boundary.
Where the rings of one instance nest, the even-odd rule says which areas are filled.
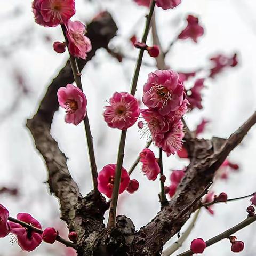
[[[87,53],[92,50],[90,39],[85,36],[85,26],[80,21],[69,20],[66,24],[68,50],[71,55],[86,59]]]

